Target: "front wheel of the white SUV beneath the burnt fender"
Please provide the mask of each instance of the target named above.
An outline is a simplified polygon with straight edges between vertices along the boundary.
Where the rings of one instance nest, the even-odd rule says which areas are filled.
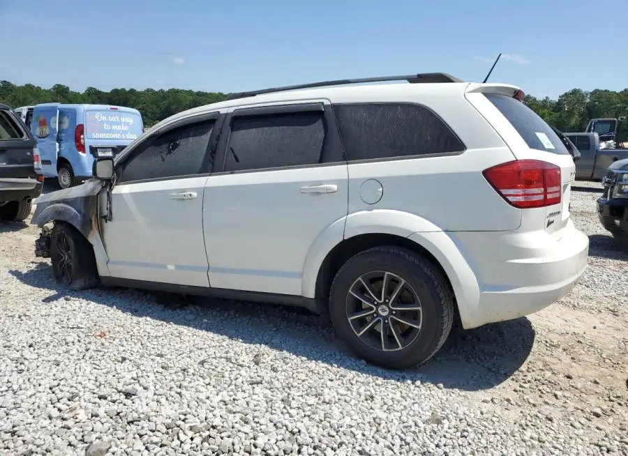
[[[72,225],[54,223],[50,235],[50,259],[54,278],[64,288],[78,291],[98,285],[94,248]]]

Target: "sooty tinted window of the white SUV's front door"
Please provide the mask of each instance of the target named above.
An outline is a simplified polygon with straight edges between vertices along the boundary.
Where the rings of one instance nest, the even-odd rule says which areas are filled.
[[[122,165],[119,182],[193,176],[201,173],[214,120],[163,133]]]

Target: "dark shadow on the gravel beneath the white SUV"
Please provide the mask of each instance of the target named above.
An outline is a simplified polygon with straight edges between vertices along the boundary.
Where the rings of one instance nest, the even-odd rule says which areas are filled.
[[[33,262],[34,263],[34,262]],[[508,379],[528,358],[534,329],[525,318],[473,330],[454,327],[444,347],[426,365],[389,371],[354,358],[336,340],[328,320],[306,310],[240,301],[182,298],[128,289],[83,292],[57,287],[51,267],[38,263],[30,271],[8,271],[31,287],[51,291],[44,303],[82,298],[115,307],[137,317],[148,317],[224,335],[245,344],[265,345],[318,363],[336,365],[391,381],[442,383],[444,388],[486,390]],[[211,363],[205,360],[205,365]]]

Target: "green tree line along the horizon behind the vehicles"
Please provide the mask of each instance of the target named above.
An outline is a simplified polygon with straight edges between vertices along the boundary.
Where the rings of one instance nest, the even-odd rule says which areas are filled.
[[[94,87],[88,87],[84,92],[75,92],[62,84],[42,89],[33,84],[18,86],[0,81],[0,102],[10,107],[44,102],[127,106],[142,113],[145,126],[153,126],[158,121],[186,109],[225,100],[227,95],[221,92],[181,89],[113,89],[105,92]],[[528,95],[524,102],[546,122],[564,132],[583,131],[589,119],[628,116],[628,89],[619,92],[571,89],[556,100]]]

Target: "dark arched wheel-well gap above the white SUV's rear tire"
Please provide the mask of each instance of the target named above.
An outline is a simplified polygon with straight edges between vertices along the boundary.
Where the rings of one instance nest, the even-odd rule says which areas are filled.
[[[394,247],[405,248],[415,252],[421,257],[424,257],[430,261],[442,276],[447,280],[447,286],[451,291],[451,295],[454,296],[454,309],[456,310],[456,318],[459,321],[460,314],[458,312],[458,303],[456,302],[456,294],[453,287],[451,287],[451,281],[447,277],[444,269],[440,265],[437,259],[428,252],[424,247],[410,241],[408,238],[401,236],[395,236],[394,234],[360,234],[359,236],[353,236],[352,238],[345,239],[334,247],[331,252],[327,254],[327,257],[322,262],[320,270],[316,278],[315,299],[317,301],[317,307],[327,310],[329,307],[329,290],[331,289],[331,282],[334,281],[336,273],[345,264],[345,261],[353,257],[355,254],[373,247],[381,247],[383,245],[391,245]]]

